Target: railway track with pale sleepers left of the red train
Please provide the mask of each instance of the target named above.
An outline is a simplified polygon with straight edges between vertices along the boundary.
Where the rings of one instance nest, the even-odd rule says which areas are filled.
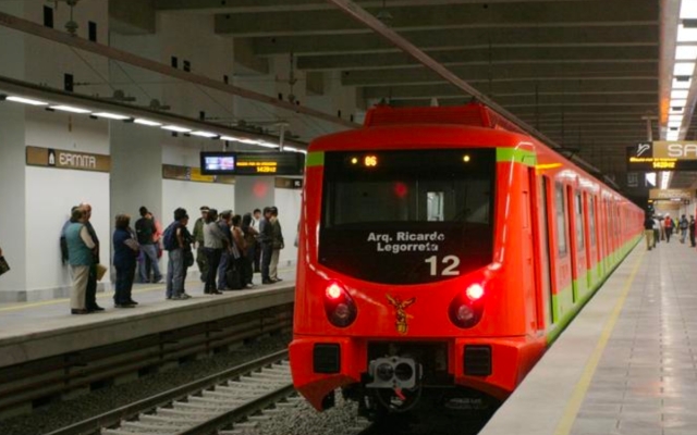
[[[233,423],[293,394],[288,351],[284,350],[48,435],[236,434],[240,427],[233,427]],[[241,426],[247,424],[254,422]],[[227,427],[232,428],[222,430]]]

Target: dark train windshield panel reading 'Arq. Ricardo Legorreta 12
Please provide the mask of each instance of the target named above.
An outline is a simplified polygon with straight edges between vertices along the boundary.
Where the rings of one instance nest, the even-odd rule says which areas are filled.
[[[491,262],[496,149],[326,152],[319,261],[384,284]]]

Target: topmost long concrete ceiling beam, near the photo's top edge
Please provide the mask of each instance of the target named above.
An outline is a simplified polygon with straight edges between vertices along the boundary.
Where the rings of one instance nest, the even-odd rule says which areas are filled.
[[[377,15],[381,7],[366,11]],[[658,4],[636,0],[432,4],[387,8],[395,32],[443,28],[590,27],[658,25]],[[216,32],[237,37],[366,34],[371,30],[335,10],[216,15]]]

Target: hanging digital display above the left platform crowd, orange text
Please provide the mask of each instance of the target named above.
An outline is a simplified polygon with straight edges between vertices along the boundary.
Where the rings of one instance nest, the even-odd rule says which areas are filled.
[[[204,175],[303,175],[298,152],[201,152]]]

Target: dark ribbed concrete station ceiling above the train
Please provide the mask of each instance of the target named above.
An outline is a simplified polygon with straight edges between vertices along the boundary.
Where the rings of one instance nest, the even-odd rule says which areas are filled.
[[[457,76],[604,173],[658,115],[658,0],[357,0]],[[257,57],[333,71],[370,103],[462,104],[469,96],[323,0],[158,0],[215,15]],[[657,122],[652,122],[658,137]]]

